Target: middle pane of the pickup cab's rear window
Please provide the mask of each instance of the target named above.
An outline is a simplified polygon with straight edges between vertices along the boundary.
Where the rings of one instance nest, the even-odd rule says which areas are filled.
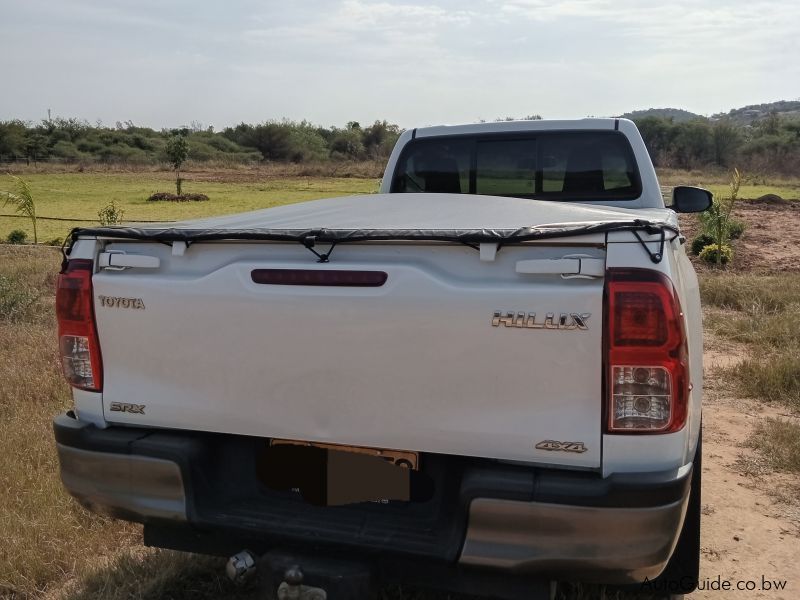
[[[476,147],[475,193],[530,196],[536,192],[536,140],[483,140]]]

